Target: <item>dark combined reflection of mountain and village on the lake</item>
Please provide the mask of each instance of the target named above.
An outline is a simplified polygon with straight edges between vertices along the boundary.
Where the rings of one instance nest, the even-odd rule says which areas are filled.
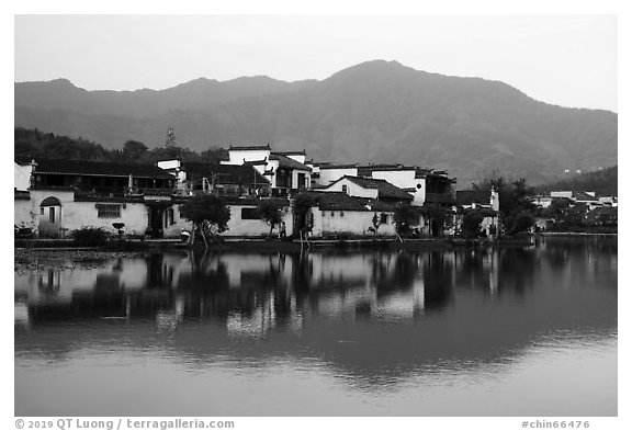
[[[168,350],[200,364],[316,358],[372,383],[498,361],[551,333],[617,327],[616,242],[154,254],[76,275],[16,277],[16,307],[27,307],[18,354],[57,359],[90,344]]]

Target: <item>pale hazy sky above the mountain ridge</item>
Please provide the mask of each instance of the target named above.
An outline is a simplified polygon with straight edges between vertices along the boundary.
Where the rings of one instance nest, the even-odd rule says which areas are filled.
[[[372,59],[617,110],[616,15],[16,15],[15,81],[163,89],[325,79]]]

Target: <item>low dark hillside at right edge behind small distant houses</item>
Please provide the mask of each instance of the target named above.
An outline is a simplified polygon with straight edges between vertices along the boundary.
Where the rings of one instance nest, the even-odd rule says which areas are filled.
[[[619,169],[614,166],[541,185],[538,188],[538,192],[572,190],[578,192],[596,192],[600,196],[617,196],[619,194],[618,179]]]

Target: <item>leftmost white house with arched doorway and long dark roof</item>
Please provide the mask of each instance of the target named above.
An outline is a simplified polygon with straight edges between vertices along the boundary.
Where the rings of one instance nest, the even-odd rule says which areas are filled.
[[[15,167],[14,224],[40,237],[65,237],[82,227],[180,235],[174,179],[155,166],[16,159]],[[18,190],[29,170],[27,190]]]

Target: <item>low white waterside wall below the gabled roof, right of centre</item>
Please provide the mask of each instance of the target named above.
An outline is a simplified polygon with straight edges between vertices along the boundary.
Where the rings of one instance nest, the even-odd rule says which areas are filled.
[[[317,207],[312,209],[314,214],[314,227],[312,229],[312,235],[315,237],[320,237],[327,234],[354,234],[354,235],[368,235],[374,236],[373,232],[369,230],[373,226],[373,216],[377,214],[377,217],[382,214],[381,212],[372,211],[343,211],[340,215],[340,211],[320,211]],[[334,213],[334,215],[331,215]],[[395,223],[393,220],[393,214],[388,214],[388,223],[381,225],[377,229],[377,236],[392,236],[395,235]]]

